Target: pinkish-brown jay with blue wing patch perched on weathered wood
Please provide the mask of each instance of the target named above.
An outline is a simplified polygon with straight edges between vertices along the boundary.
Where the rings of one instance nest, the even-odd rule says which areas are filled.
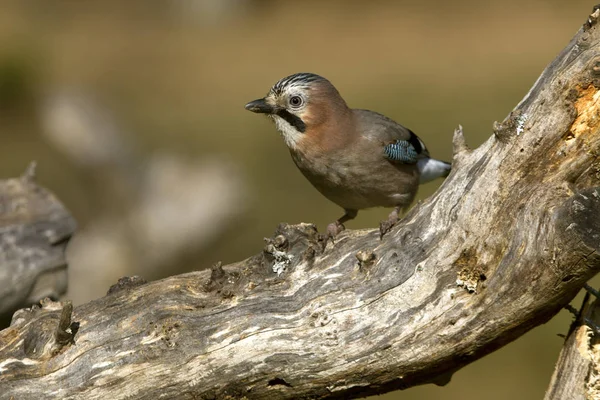
[[[313,73],[280,79],[245,109],[266,114],[292,160],[344,214],[327,226],[332,240],[359,210],[393,207],[380,237],[399,221],[419,184],[446,177],[451,164],[433,159],[410,129],[374,111],[350,108],[335,86]]]

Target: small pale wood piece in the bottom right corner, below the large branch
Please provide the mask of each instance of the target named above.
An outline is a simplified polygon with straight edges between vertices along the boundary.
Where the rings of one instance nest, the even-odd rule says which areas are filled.
[[[600,398],[600,300],[589,295],[571,325],[544,400]]]

